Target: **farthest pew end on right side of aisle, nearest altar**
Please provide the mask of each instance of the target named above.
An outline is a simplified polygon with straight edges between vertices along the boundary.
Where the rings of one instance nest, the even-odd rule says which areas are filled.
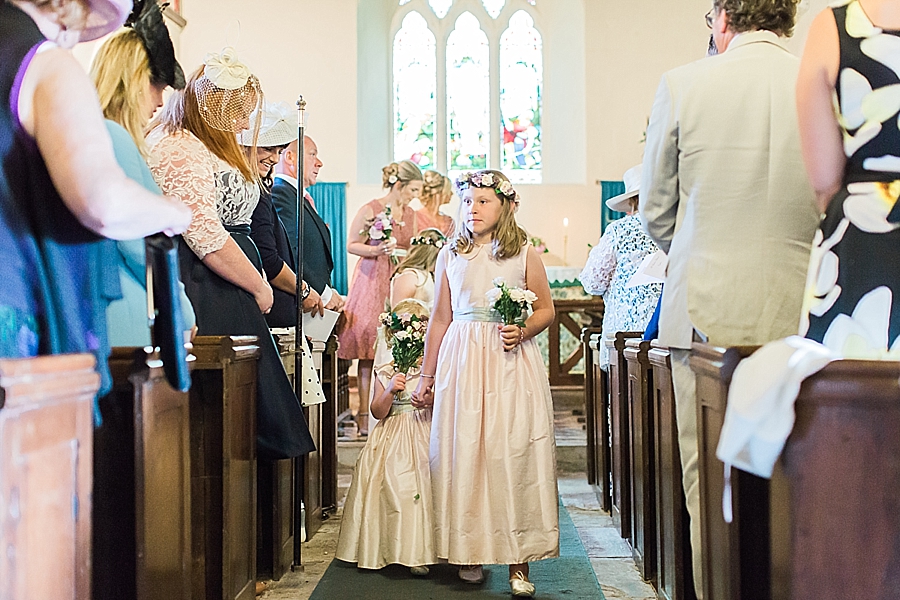
[[[596,327],[586,327],[582,340],[585,350],[584,398],[587,423],[587,477],[594,487],[600,508],[609,512],[612,508],[609,469],[609,379],[600,368],[601,332]]]

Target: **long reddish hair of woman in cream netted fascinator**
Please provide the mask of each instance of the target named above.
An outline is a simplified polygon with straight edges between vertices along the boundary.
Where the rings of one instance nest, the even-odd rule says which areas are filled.
[[[255,128],[253,147],[248,158],[237,142],[237,136],[230,131],[221,131],[210,127],[200,115],[200,102],[194,91],[197,80],[203,77],[204,66],[191,73],[184,90],[176,91],[163,106],[159,115],[150,124],[150,129],[161,126],[163,131],[172,134],[181,130],[190,131],[203,142],[210,152],[241,172],[247,181],[259,182],[259,171],[256,168],[256,136],[259,127]],[[247,83],[247,93],[255,94],[255,89]],[[258,99],[262,101],[261,98]]]

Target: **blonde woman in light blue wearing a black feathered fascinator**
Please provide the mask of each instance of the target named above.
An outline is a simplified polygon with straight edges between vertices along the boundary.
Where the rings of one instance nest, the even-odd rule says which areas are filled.
[[[161,194],[147,168],[144,130],[160,106],[167,87],[184,88],[184,73],[175,60],[175,48],[153,0],[138,2],[126,27],[97,50],[91,63],[100,108],[113,142],[119,166],[149,192]],[[106,309],[111,346],[143,347],[150,344],[147,325],[147,285],[144,240],[116,243],[122,298]],[[181,290],[181,308],[188,330],[195,325],[194,310]]]

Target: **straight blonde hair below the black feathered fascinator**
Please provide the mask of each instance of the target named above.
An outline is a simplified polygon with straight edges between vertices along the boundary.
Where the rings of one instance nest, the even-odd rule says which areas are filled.
[[[90,75],[103,116],[124,127],[146,157],[147,116],[143,100],[152,73],[147,50],[137,32],[122,29],[103,42],[91,62]]]

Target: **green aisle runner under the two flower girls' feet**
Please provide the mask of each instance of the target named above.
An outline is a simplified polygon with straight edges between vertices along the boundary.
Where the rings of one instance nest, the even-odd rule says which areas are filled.
[[[578,531],[566,509],[559,507],[560,557],[531,564],[530,579],[539,600],[602,600],[603,593],[588,560]],[[506,565],[485,567],[482,585],[463,583],[456,568],[437,565],[425,578],[413,577],[397,565],[380,571],[362,571],[335,560],[328,567],[310,600],[482,600],[511,598]]]

